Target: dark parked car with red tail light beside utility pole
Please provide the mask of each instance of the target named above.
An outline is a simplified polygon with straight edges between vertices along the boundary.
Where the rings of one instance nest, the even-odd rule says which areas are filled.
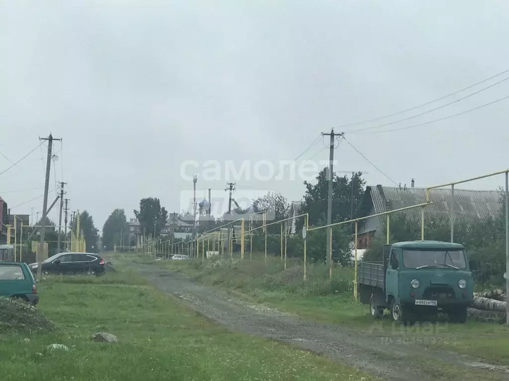
[[[36,273],[38,263],[31,263],[30,269]],[[104,273],[104,259],[90,252],[60,252],[42,261],[43,274],[101,275]]]

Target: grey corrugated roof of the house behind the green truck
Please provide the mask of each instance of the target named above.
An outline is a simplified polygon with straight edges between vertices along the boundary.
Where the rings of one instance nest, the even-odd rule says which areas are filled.
[[[400,188],[395,186],[367,186],[366,193],[376,213],[404,208],[426,202],[426,188]],[[437,188],[430,190],[430,201],[433,204],[425,207],[425,217],[449,217],[451,189]],[[474,220],[496,217],[501,208],[501,194],[498,190],[454,189],[455,218]],[[407,215],[420,218],[420,208],[409,209]],[[382,216],[385,219],[385,217]]]

